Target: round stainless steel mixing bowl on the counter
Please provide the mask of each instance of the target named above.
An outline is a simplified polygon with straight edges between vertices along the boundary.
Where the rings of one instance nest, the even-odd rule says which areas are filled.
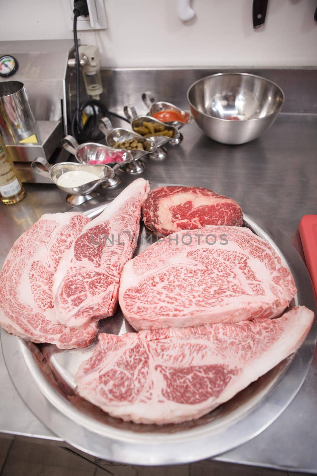
[[[218,73],[187,91],[193,118],[202,132],[223,144],[244,144],[273,124],[284,93],[269,79],[247,73]]]

